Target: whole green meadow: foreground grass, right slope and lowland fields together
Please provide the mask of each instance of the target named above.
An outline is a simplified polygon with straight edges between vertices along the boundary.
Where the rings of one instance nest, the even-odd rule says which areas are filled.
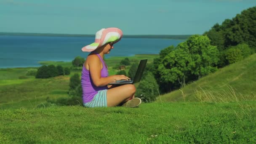
[[[129,59],[150,63],[156,56]],[[106,59],[110,73],[121,59]],[[69,78],[81,68],[48,79],[22,78],[35,68],[0,69],[0,143],[256,143],[255,64],[254,54],[138,108],[45,106],[47,99],[68,97]],[[235,97],[221,93],[226,86]]]

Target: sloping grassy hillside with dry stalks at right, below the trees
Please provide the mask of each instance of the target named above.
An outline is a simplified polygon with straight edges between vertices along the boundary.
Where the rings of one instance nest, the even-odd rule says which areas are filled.
[[[219,69],[158,101],[256,100],[256,54]]]

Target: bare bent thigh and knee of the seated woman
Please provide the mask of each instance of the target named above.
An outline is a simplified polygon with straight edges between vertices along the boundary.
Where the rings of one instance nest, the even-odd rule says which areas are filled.
[[[115,107],[134,96],[136,88],[132,84],[121,85],[107,90],[107,107]]]

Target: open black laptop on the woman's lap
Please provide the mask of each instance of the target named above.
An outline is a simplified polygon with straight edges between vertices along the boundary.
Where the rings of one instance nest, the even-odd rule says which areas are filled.
[[[131,80],[116,80],[114,83],[109,83],[109,85],[126,85],[126,84],[133,84],[133,83],[138,83],[141,81],[142,74],[144,72],[144,69],[147,64],[147,59],[143,59],[139,62],[139,66],[136,71],[136,75],[133,79]]]

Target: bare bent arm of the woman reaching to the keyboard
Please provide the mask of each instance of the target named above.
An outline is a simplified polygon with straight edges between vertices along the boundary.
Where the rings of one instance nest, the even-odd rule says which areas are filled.
[[[101,77],[101,61],[98,56],[90,56],[88,59],[89,71],[93,84],[97,87],[108,85],[115,80],[125,80],[130,79],[125,75],[112,75],[109,77]]]

